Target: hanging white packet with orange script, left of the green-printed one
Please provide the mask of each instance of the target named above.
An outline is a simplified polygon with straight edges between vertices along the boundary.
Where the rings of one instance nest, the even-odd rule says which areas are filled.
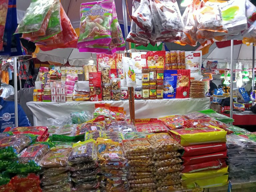
[[[197,29],[213,32],[228,32],[227,28],[223,26],[220,4],[215,1],[201,1],[196,11]]]

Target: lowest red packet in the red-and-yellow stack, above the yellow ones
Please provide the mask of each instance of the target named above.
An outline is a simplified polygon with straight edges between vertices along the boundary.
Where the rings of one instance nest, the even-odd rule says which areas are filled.
[[[195,165],[186,165],[182,171],[182,173],[193,173],[196,171],[209,171],[214,169],[220,169],[226,167],[225,159],[217,159],[214,161],[207,161],[203,163],[198,163]]]

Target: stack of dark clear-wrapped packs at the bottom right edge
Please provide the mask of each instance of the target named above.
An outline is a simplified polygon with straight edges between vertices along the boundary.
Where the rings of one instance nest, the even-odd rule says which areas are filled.
[[[256,143],[238,135],[227,135],[229,178],[232,183],[255,181]]]

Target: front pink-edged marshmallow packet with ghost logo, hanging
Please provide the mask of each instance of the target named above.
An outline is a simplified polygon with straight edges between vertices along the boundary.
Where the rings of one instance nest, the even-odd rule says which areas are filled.
[[[77,48],[111,42],[113,0],[82,3],[80,8],[80,36]]]

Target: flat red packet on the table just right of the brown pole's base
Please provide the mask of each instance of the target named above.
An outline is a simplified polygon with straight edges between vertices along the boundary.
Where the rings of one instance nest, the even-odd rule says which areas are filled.
[[[153,123],[141,123],[136,124],[136,130],[138,132],[148,132],[148,133],[159,133],[167,132],[169,129],[162,123],[161,120],[154,121]]]

